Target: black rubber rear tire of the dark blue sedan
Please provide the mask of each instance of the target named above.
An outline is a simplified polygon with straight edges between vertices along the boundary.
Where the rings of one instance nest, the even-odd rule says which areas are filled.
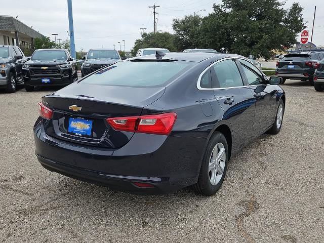
[[[217,184],[213,185],[210,181],[211,177],[211,171],[209,170],[209,164],[211,161],[211,157],[213,155],[213,149],[217,146],[217,144],[221,143],[224,146],[225,153],[226,153],[226,158],[223,159],[222,161],[225,160],[225,166],[223,169],[223,173],[221,174],[221,178],[218,181]],[[218,148],[217,148],[218,150]],[[205,195],[205,196],[211,196],[214,195],[221,185],[223,184],[225,175],[226,175],[226,170],[227,170],[227,164],[228,164],[228,145],[225,136],[220,133],[220,132],[215,132],[213,137],[210,139],[206,152],[203,158],[203,161],[201,162],[201,167],[200,167],[200,172],[199,172],[199,177],[198,181],[196,184],[193,185],[193,189],[195,190],[196,193]],[[220,175],[217,174],[216,175]]]

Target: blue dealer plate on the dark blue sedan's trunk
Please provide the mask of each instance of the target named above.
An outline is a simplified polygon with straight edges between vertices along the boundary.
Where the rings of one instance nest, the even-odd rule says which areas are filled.
[[[92,120],[70,117],[67,132],[77,136],[91,137],[92,124]]]

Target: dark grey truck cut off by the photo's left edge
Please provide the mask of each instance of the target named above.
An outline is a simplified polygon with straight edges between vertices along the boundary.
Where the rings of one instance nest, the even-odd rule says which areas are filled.
[[[21,67],[26,61],[24,53],[16,46],[0,46],[0,89],[14,93],[23,84]]]

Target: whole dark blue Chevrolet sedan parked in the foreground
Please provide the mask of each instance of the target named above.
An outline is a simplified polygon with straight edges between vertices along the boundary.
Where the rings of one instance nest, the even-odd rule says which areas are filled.
[[[234,54],[161,53],[42,98],[36,156],[50,171],[137,194],[214,194],[229,159],[285,111],[280,77]]]

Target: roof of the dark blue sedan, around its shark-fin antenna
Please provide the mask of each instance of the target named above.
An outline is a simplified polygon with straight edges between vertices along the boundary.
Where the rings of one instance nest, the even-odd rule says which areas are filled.
[[[215,59],[222,59],[225,57],[242,57],[243,56],[237,54],[219,54],[219,53],[207,53],[207,52],[170,52],[166,53],[163,57],[159,59],[170,59],[170,60],[182,60],[182,61],[189,61],[189,62],[201,62],[208,58],[215,58]],[[135,59],[156,59],[155,55],[146,55],[146,56],[139,56],[134,57],[130,60]]]

